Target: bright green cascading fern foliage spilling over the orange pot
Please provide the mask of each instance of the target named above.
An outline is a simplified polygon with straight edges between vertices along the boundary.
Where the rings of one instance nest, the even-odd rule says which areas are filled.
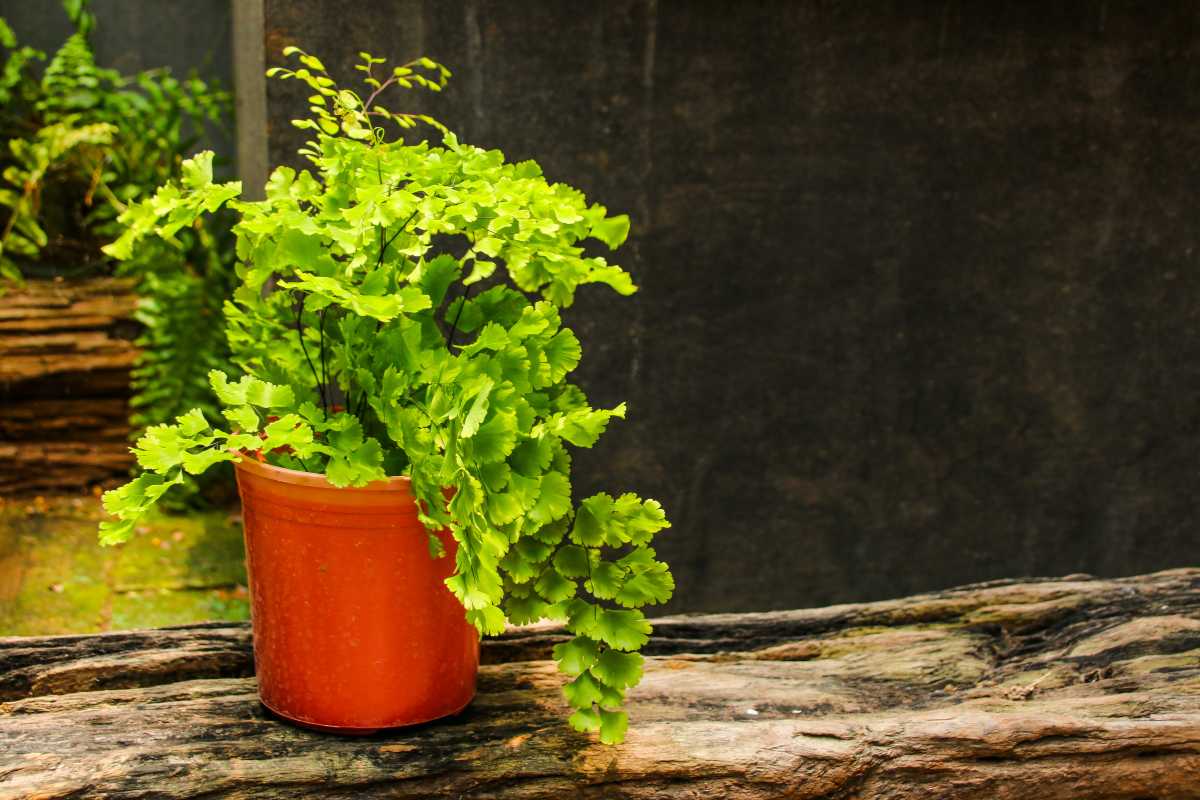
[[[559,308],[588,283],[636,290],[582,247],[618,247],[629,218],[548,182],[532,161],[506,163],[378,104],[394,86],[440,90],[449,71],[428,59],[379,76],[383,59],[361,54],[364,98],[317,58],[284,54],[299,68],[268,74],[313,92],[312,115],[295,122],[313,131],[301,150],[312,169],[280,167],[264,200],[244,201],[239,184],[212,182],[202,154],[179,185],[130,206],[107,248],[130,258],[145,237],[169,241],[230,207],[240,285],[224,315],[245,375],[211,373],[223,422],[196,409],[145,433],[134,449],[145,471],[104,495],[118,519],[101,539],[124,541],[170,487],[238,453],[335,486],[408,475],[424,524],[457,542],[446,584],[470,621],[482,633],[564,621],[574,638],[554,657],[572,679],[571,724],[618,742],[650,633],[640,609],[674,589],[652,547],[670,523],[635,494],[572,504],[570,449],[594,445],[625,408],[594,409],[568,380],[581,348]],[[442,145],[403,140],[420,122]],[[430,547],[437,554],[432,534]]]

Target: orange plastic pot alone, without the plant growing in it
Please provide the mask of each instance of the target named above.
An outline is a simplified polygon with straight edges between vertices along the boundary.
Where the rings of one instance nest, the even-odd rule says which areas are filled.
[[[263,704],[346,734],[416,724],[475,694],[479,636],[430,557],[407,477],[337,488],[242,458],[254,667]]]

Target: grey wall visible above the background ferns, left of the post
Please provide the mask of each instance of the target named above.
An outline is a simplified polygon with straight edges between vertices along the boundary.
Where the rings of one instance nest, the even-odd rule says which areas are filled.
[[[234,0],[92,0],[96,29],[91,36],[96,62],[132,74],[169,67],[176,77],[193,70],[205,80],[233,90]],[[4,17],[20,44],[53,58],[74,32],[59,0],[0,0]],[[228,130],[214,130],[202,146],[220,158],[234,161],[233,120]]]

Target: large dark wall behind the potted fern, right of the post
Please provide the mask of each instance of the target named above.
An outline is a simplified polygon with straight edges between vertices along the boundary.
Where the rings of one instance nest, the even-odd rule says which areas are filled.
[[[464,139],[634,217],[580,488],[664,501],[673,608],[1198,560],[1200,7],[268,0],[456,71]],[[302,137],[269,88],[271,161]]]

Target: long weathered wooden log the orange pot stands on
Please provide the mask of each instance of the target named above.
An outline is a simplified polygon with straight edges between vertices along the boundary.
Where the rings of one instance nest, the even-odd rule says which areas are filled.
[[[665,618],[614,748],[563,720],[562,638],[364,739],[272,720],[245,626],[0,639],[0,798],[1200,796],[1200,570]]]

